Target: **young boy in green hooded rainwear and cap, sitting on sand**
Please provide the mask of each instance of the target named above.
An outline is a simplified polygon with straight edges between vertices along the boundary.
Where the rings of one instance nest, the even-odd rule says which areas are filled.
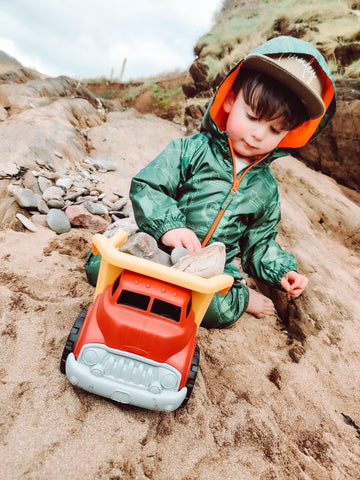
[[[140,230],[165,247],[194,252],[223,242],[225,272],[233,287],[216,294],[205,327],[226,327],[244,311],[274,312],[272,301],[240,282],[234,264],[240,249],[249,275],[299,296],[308,280],[275,241],[280,220],[276,181],[269,165],[304,146],[335,111],[327,64],[309,43],[272,39],[224,79],[202,121],[201,133],[177,139],[131,184]]]

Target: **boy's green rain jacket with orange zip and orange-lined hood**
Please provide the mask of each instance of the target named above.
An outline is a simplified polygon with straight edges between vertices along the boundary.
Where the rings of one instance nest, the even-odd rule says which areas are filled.
[[[297,265],[293,255],[276,242],[280,202],[269,165],[278,157],[293,154],[326,126],[335,111],[335,87],[325,60],[307,42],[278,37],[254,53],[314,57],[325,85],[325,115],[292,130],[265,159],[236,174],[228,133],[224,130],[227,114],[223,101],[241,68],[240,62],[215,93],[204,115],[201,133],[172,141],[133,178],[130,198],[141,231],[159,240],[170,229],[190,228],[202,242],[225,244],[225,271],[235,280],[241,278],[234,264],[240,253],[246,273],[279,288],[284,274],[296,270]],[[247,307],[246,291],[242,292],[240,310],[232,318]]]

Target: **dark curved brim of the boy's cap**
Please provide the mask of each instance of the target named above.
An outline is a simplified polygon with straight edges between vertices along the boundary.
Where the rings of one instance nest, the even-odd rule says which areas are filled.
[[[320,95],[311,90],[306,83],[302,82],[291,72],[282,68],[271,57],[257,53],[250,54],[245,57],[243,68],[265,73],[281,82],[300,98],[311,119],[324,115],[325,105]]]

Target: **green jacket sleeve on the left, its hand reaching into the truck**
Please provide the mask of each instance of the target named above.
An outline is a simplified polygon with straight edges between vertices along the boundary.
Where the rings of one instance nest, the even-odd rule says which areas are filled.
[[[131,181],[130,199],[136,223],[156,240],[168,230],[186,225],[176,200],[184,176],[182,150],[183,140],[173,140]]]

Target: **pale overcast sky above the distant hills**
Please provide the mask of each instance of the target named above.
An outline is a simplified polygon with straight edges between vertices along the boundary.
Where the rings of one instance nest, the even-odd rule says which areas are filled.
[[[223,0],[0,0],[0,50],[50,76],[149,77],[192,63]]]

